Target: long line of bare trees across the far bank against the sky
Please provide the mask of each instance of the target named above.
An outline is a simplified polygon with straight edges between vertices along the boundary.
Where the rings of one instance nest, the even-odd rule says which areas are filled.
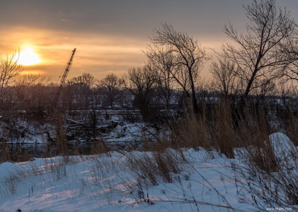
[[[137,107],[145,121],[172,122],[192,108],[203,113],[206,104],[224,99],[240,119],[245,108],[275,105],[297,108],[298,31],[286,9],[267,0],[244,6],[248,24],[245,33],[225,25],[230,42],[224,43],[216,59],[200,43],[172,25],[153,30],[150,44],[143,52],[143,67],[130,68],[123,76],[109,74],[96,79],[88,73],[69,79],[63,87],[58,109]],[[29,115],[50,109],[57,85],[49,79],[24,76],[15,81],[22,67],[11,57],[1,59],[1,116],[18,111]],[[212,75],[200,78],[206,61]],[[204,106],[205,105],[205,106]]]

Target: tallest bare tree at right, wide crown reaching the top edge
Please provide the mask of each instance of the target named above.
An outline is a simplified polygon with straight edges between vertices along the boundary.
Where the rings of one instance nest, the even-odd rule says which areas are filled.
[[[291,58],[284,51],[284,45],[294,32],[295,22],[290,18],[289,11],[276,8],[274,0],[243,6],[249,23],[247,33],[238,33],[233,25],[224,26],[227,37],[236,43],[225,43],[222,46],[223,58],[230,60],[239,67],[237,77],[244,84],[241,108],[254,89],[258,79],[272,80],[288,65]],[[255,84],[258,85],[258,84]]]

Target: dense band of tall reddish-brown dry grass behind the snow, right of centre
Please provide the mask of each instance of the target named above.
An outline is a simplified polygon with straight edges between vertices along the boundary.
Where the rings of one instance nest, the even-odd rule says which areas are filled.
[[[234,106],[233,106],[234,107]],[[270,146],[265,146],[265,140],[271,133],[279,131],[268,121],[268,115],[262,109],[247,109],[237,125],[232,106],[225,101],[218,101],[212,107],[203,107],[203,113],[197,117],[192,111],[175,123],[172,137],[165,142],[158,142],[159,149],[194,148],[199,146],[206,150],[217,150],[228,158],[234,158],[234,148],[248,148],[255,162],[260,167],[274,167]],[[269,117],[270,118],[270,117]],[[282,120],[285,121],[285,120]],[[294,122],[294,120],[292,121]],[[298,121],[297,121],[298,123]],[[292,126],[292,125],[291,125]],[[294,130],[294,129],[293,129]],[[288,131],[289,133],[293,133]],[[259,149],[266,150],[267,155],[261,155]]]

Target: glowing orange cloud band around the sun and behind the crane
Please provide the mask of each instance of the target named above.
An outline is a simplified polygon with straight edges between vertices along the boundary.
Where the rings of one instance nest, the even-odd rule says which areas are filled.
[[[129,67],[142,65],[144,61],[140,49],[146,47],[146,42],[123,36],[18,26],[0,29],[0,33],[2,53],[14,52],[24,45],[31,46],[42,62],[24,67],[24,73],[51,76],[53,82],[58,79],[74,48],[77,51],[71,76],[90,72],[95,77],[102,78],[108,71],[121,76]]]

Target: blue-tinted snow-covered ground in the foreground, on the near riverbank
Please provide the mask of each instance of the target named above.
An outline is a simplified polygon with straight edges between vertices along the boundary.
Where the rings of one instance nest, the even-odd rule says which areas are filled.
[[[147,156],[153,160],[152,152],[110,152],[2,163],[0,212],[17,209],[43,212],[259,211],[243,201],[243,197],[251,199],[251,194],[235,183],[235,164],[244,166],[239,155],[227,159],[202,148],[184,149],[183,153],[189,161],[180,164],[183,171],[173,173],[171,183],[158,179],[158,185],[146,185],[146,176],[140,177],[131,167],[132,158]],[[241,181],[241,176],[237,178]]]

